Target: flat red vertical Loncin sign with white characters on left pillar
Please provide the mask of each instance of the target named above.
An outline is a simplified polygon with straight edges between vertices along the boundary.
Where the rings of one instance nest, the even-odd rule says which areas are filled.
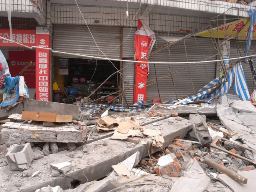
[[[51,100],[51,35],[42,27],[36,28],[36,100]]]

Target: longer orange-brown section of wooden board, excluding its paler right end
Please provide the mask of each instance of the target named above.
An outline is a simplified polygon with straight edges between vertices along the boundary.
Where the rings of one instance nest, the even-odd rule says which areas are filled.
[[[22,111],[22,120],[56,122],[56,113]]]

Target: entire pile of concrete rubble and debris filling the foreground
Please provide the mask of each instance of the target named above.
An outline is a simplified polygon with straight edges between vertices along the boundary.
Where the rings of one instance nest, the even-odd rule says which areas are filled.
[[[89,125],[79,106],[24,100],[2,120],[0,191],[254,191],[255,106],[228,95],[211,106],[154,104]]]

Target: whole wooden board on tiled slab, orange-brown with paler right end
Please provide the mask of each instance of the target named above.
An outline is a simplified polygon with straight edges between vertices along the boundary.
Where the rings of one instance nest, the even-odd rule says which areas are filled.
[[[72,122],[72,115],[58,115],[51,112],[22,111],[22,120],[44,122]]]

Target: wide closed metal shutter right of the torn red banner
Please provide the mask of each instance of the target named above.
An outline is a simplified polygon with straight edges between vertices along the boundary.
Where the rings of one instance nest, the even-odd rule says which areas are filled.
[[[165,40],[157,38],[152,53],[166,44],[167,42]],[[210,56],[214,56],[216,54],[210,39],[186,38],[185,44],[186,49],[183,40],[180,40],[179,42],[169,46],[169,49],[165,48],[164,50],[154,54],[149,58],[149,60],[155,62],[186,62],[188,58],[188,61],[192,62],[216,59],[215,57],[208,59]],[[150,64],[146,100],[152,101],[154,98],[158,98],[158,88],[160,98],[164,101],[172,98],[183,98],[184,96],[198,92],[202,86],[215,78],[216,64],[214,62],[200,63],[191,66],[189,69],[190,71],[188,69],[182,70],[186,67],[188,67],[188,64],[155,64],[155,70],[154,64]],[[170,76],[169,69],[174,73],[173,81]],[[180,72],[178,72],[179,70]],[[155,80],[155,71],[158,78],[158,88]]]

